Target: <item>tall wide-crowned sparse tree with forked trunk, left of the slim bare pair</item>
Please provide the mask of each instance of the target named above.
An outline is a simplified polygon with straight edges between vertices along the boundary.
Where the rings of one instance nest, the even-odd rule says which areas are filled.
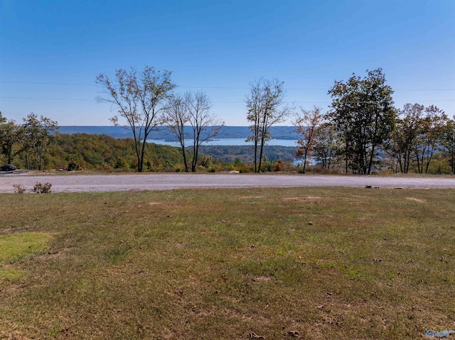
[[[119,116],[110,119],[115,126],[132,131],[137,170],[141,172],[144,169],[147,138],[156,126],[163,123],[162,112],[176,84],[171,82],[171,72],[156,71],[149,66],[144,67],[139,77],[134,68],[129,72],[119,69],[115,79],[118,84],[112,83],[107,75],[97,76],[97,84],[105,87],[105,93],[108,94],[108,97],[98,97],[97,101],[112,104],[112,110],[117,110],[127,122],[120,124]]]

